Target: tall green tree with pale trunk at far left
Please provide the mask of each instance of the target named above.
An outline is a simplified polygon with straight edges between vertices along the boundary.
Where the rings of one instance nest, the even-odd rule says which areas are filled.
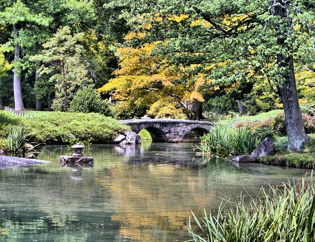
[[[12,6],[6,7],[0,12],[0,24],[12,26],[12,39],[2,48],[14,52],[13,90],[16,110],[24,110],[21,88],[21,48],[28,48],[34,43],[34,36],[30,33],[30,26],[48,26],[50,19],[43,14],[36,14],[24,3],[17,0]]]

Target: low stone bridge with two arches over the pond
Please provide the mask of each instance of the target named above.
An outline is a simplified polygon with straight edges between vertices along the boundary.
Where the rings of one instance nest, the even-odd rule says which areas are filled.
[[[170,120],[170,119],[140,119],[121,120],[127,124],[132,131],[139,133],[142,129],[148,130],[153,141],[158,142],[180,142],[190,132],[197,136],[209,133],[213,122],[191,121],[191,120]]]

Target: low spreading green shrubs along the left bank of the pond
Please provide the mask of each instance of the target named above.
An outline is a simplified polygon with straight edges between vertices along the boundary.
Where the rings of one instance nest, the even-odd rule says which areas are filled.
[[[61,144],[73,136],[79,140],[90,139],[92,143],[110,143],[115,134],[130,130],[129,126],[95,113],[28,111],[26,115],[20,117],[0,111],[0,147],[12,126],[24,127],[30,134],[30,142],[45,144]]]

